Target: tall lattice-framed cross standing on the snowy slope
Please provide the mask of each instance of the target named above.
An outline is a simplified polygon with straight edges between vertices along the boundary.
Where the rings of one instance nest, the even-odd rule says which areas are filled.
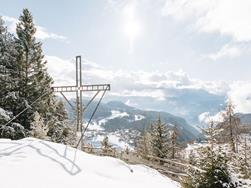
[[[69,100],[65,97],[63,92],[75,92],[76,93],[76,114],[77,114],[77,131],[82,132],[83,128],[83,104],[82,104],[82,93],[96,91],[97,93],[100,91],[110,91],[110,84],[94,84],[94,85],[83,85],[82,84],[82,64],[81,64],[81,56],[76,56],[76,85],[75,86],[54,86],[52,87],[54,92],[59,92],[65,100],[70,104],[72,108],[73,105],[69,102]],[[94,97],[95,97],[94,96]]]

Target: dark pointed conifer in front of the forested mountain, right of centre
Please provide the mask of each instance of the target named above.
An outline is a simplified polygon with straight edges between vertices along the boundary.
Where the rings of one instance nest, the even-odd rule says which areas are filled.
[[[151,148],[155,157],[166,158],[168,155],[170,134],[166,124],[162,123],[160,115],[158,120],[152,124]]]

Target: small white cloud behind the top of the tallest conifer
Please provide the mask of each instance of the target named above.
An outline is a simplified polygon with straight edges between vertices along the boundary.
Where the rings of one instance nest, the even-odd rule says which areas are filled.
[[[5,21],[5,23],[7,24],[8,30],[11,33],[15,33],[16,32],[16,25],[19,22],[19,20],[17,18],[9,17],[9,16],[3,16],[2,18]],[[49,32],[46,28],[44,28],[42,26],[36,25],[36,28],[37,28],[37,32],[36,32],[35,36],[40,40],[45,40],[45,39],[56,39],[56,40],[63,40],[63,41],[67,40],[67,37],[65,37],[63,35],[56,34],[56,33]]]

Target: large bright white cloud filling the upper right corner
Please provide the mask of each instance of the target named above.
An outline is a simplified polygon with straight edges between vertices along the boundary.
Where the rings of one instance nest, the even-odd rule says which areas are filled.
[[[246,42],[251,41],[250,9],[249,0],[166,0],[162,14],[190,22],[199,32],[218,32]]]

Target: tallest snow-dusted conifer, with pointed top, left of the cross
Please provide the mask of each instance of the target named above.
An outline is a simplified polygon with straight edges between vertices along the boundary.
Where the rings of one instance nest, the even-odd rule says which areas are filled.
[[[52,79],[46,70],[46,61],[42,53],[42,43],[36,41],[36,28],[33,17],[28,9],[24,9],[16,28],[16,49],[19,70],[19,95],[23,102],[19,104],[19,111],[42,96],[41,100],[34,103],[18,117],[18,121],[28,130],[34,112],[38,112],[47,123],[53,113],[49,107],[53,107],[54,96],[51,90]]]

